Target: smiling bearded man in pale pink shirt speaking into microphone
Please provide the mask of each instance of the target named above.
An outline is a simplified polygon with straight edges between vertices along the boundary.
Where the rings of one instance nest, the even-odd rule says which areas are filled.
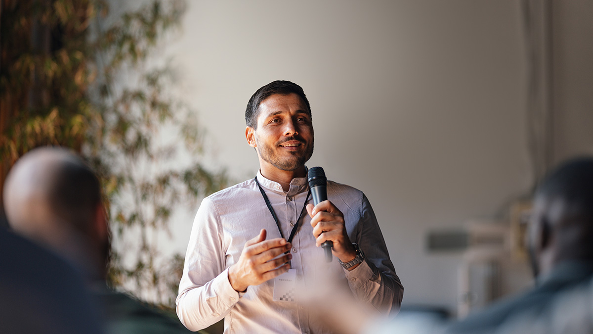
[[[179,285],[181,322],[197,330],[224,318],[225,333],[331,332],[292,302],[316,286],[316,272],[339,275],[361,304],[396,311],[403,287],[365,195],[328,181],[329,200],[309,203],[305,162],[314,134],[302,88],[290,81],[263,86],[245,118],[260,170],[202,201]],[[344,268],[325,262],[324,241],[333,242]]]

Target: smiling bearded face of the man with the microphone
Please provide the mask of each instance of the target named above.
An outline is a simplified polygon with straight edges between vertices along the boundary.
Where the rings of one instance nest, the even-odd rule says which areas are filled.
[[[295,171],[313,155],[313,124],[297,94],[273,94],[259,105],[257,130],[247,128],[263,169]]]

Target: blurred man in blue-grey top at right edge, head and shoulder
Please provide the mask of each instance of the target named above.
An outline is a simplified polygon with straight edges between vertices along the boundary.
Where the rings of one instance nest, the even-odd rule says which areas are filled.
[[[593,279],[592,240],[593,157],[582,157],[560,166],[535,192],[528,231],[537,276],[535,288],[452,324],[447,333],[556,332],[553,329],[563,326],[570,316],[562,314],[569,308],[560,310],[554,306],[559,304],[557,300],[565,300],[566,295],[573,294],[571,291],[578,291],[575,289]],[[581,320],[589,319],[590,314]],[[554,323],[551,319],[557,320]],[[541,330],[531,330],[534,326]]]

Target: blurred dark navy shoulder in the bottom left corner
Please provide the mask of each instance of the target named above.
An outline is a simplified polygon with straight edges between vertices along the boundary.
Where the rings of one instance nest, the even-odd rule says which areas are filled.
[[[0,220],[5,222],[1,215]],[[0,332],[103,333],[78,272],[4,227],[0,227]]]

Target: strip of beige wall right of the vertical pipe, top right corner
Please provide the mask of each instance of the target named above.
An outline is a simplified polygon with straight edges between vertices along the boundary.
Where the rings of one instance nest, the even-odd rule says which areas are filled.
[[[554,1],[553,160],[593,153],[593,1]]]

